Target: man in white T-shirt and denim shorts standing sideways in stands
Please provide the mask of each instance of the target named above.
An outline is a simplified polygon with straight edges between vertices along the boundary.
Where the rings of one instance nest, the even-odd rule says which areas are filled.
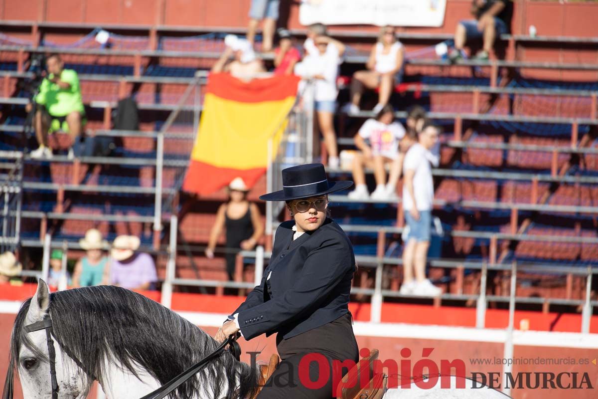
[[[442,293],[426,279],[434,201],[432,165],[438,166],[438,157],[431,150],[437,145],[440,132],[440,127],[426,122],[419,133],[419,142],[409,148],[403,163],[403,209],[408,233],[403,250],[403,285],[399,292],[404,295],[438,296]]]

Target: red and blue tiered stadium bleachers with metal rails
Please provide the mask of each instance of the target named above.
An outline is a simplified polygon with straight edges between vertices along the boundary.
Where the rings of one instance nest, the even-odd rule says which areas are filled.
[[[185,200],[179,198],[179,189],[196,121],[179,118],[178,126],[169,127],[163,136],[159,132],[171,112],[199,112],[205,71],[224,49],[225,32],[242,31],[105,24],[103,29],[111,31],[106,47],[94,40],[96,26],[85,23],[2,21],[0,25],[7,28],[0,35],[1,150],[22,146],[23,106],[28,98],[22,82],[32,78],[28,71],[32,54],[48,51],[63,54],[67,68],[80,74],[88,109],[87,131],[119,139],[113,159],[56,156],[51,162],[39,162],[26,157],[23,189],[28,201],[23,208],[22,233],[26,242],[35,243],[51,230],[54,239],[75,243],[86,229],[98,227],[109,239],[123,232],[134,233],[142,237],[148,249],[163,248],[167,234],[152,226],[155,200],[159,196],[169,205]],[[19,33],[23,29],[30,29],[31,34]],[[304,34],[303,29],[293,32]],[[374,33],[332,30],[332,34],[349,43],[341,67],[348,78],[365,62]],[[598,41],[507,35],[502,38],[508,47],[507,59],[465,60],[451,65],[434,59],[431,47],[450,40],[451,35],[400,32],[399,39],[407,45],[407,65],[405,82],[396,88],[392,99],[401,109],[396,115],[404,118],[402,109],[419,103],[447,132],[441,166],[434,172],[435,215],[440,217],[446,235],[432,266],[444,270],[438,266],[443,261],[453,262],[447,266],[453,267],[484,260],[490,264],[566,264],[571,268],[595,264],[598,66],[583,57],[579,62],[563,62],[560,53],[556,54],[562,50],[554,47],[595,49]],[[547,54],[544,59],[535,53],[539,48]],[[198,69],[203,72],[196,74]],[[196,92],[187,96],[181,107],[179,100],[190,84],[195,85]],[[341,92],[340,99],[346,98],[346,91]],[[141,131],[110,130],[112,109],[128,96],[139,103]],[[352,148],[350,136],[369,116],[367,111],[355,118],[339,115],[347,119],[346,129],[340,133],[341,148]],[[160,137],[163,144],[158,151]],[[161,151],[164,169],[160,172],[161,193],[156,193]],[[343,170],[331,169],[329,173],[347,176]],[[265,187],[263,180],[251,198]],[[181,249],[179,277],[226,279],[222,259],[208,260],[197,249],[207,242],[215,204],[223,198],[224,193],[218,193],[202,199],[181,215],[179,237],[193,253]],[[356,254],[379,259],[392,240],[400,242],[402,211],[396,203],[355,203],[343,193],[332,201],[334,216],[347,228]],[[161,218],[167,218],[178,209],[162,207],[161,211]],[[381,239],[380,226],[388,227],[392,240]],[[396,256],[393,253],[386,258]],[[164,264],[158,262],[158,266],[163,275]],[[446,285],[447,295],[462,293],[463,285],[454,285],[454,278],[443,273],[438,281]],[[474,287],[479,273],[468,276],[468,287]],[[251,269],[244,278],[252,281]],[[517,295],[539,293],[553,299],[581,299],[585,290],[583,284],[573,289],[565,280],[557,288],[539,286],[521,286]],[[395,278],[387,296],[395,296],[396,290]]]

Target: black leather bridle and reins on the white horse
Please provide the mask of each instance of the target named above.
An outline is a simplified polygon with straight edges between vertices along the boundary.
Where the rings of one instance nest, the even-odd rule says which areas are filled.
[[[53,335],[54,335],[54,338],[56,338],[56,334],[54,334],[54,330],[52,327],[53,327],[52,319],[50,318],[50,315],[48,314],[48,315],[45,315],[45,317],[42,321],[28,324],[23,328],[25,328],[25,331],[27,333],[33,333],[33,331],[45,330],[46,343],[48,345],[48,360],[50,361],[50,380],[51,380],[51,385],[52,385],[52,399],[58,399],[58,392],[60,389],[58,386],[58,381],[56,379],[56,349],[54,348],[54,340],[52,339]],[[212,353],[206,355],[202,360],[200,360],[193,366],[187,368],[187,370],[182,371],[182,373],[178,374],[178,376],[175,376],[169,382],[160,386],[160,388],[157,388],[154,391],[149,392],[149,394],[145,395],[144,397],[142,397],[140,399],[162,399],[162,398],[166,397],[167,395],[170,394],[170,392],[174,391],[176,388],[178,388],[183,383],[185,383],[188,379],[193,377],[197,373],[197,371],[201,370],[204,366],[206,366],[206,364],[208,364],[209,361],[218,357],[220,352],[224,351],[224,348],[226,348],[227,345],[230,345],[230,351],[233,354],[234,358],[236,358],[236,360],[239,360],[241,351],[240,351],[239,343],[236,342],[236,340],[237,340],[237,338],[239,338],[239,336],[240,336],[239,333],[229,336],[227,339],[224,340],[224,342],[222,342],[220,344],[220,346],[218,346],[218,348],[214,349],[214,351]],[[84,367],[83,364],[81,364],[81,362],[79,360],[77,360],[76,357],[74,357],[71,353],[69,353],[68,348],[66,348],[63,345],[60,345],[60,347],[63,348],[63,350],[66,352],[66,354],[69,355],[69,357],[71,357],[72,360],[75,361],[77,366],[81,367],[81,369],[83,371],[85,371],[89,376],[93,377],[93,379],[97,379],[96,377],[93,376],[93,374],[91,374],[89,372],[89,370],[86,370],[86,367]]]

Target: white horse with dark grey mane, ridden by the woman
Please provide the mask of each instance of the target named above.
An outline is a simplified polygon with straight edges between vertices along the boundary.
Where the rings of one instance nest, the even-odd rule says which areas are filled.
[[[58,398],[86,398],[97,380],[109,399],[138,399],[218,347],[200,328],[132,291],[99,286],[49,294],[40,280],[14,322],[4,399],[11,399],[14,369],[25,399],[52,397],[46,330],[42,326],[28,332],[26,328],[50,319]],[[169,398],[246,398],[257,385],[257,370],[224,351]],[[505,396],[490,389],[440,389],[438,383],[434,389],[389,389],[384,398],[457,397]]]

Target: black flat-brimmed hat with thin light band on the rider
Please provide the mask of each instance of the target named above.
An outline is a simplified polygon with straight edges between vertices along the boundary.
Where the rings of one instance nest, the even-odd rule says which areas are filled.
[[[352,181],[328,181],[321,163],[307,163],[282,169],[282,190],[260,196],[264,201],[288,201],[346,190]]]

